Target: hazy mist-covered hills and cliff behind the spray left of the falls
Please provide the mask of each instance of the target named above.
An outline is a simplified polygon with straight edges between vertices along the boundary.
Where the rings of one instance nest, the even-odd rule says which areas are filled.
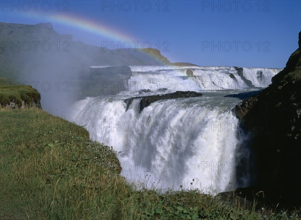
[[[109,50],[74,42],[72,35],[58,34],[50,23],[0,23],[0,39],[0,77],[37,89],[43,108],[55,114],[60,114],[75,100],[101,95],[99,86],[103,82],[99,80],[116,81],[115,76],[119,74],[111,68],[106,75],[110,78],[90,79],[90,66],[126,69],[133,65],[172,65],[160,51],[152,48]]]

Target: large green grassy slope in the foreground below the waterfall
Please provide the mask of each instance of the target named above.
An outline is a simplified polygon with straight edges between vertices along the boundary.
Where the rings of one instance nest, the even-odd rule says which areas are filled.
[[[298,218],[198,190],[137,190],[115,151],[40,109],[0,109],[0,131],[0,219]]]

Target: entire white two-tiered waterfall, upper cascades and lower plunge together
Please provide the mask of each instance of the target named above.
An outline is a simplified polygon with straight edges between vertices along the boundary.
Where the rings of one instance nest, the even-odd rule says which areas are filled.
[[[92,139],[112,145],[122,174],[130,181],[213,193],[235,188],[239,138],[232,109],[240,100],[233,94],[254,91],[245,89],[246,81],[267,86],[280,70],[244,68],[243,76],[234,67],[134,66],[131,70],[125,91],[80,100],[67,119],[85,126]],[[204,95],[160,100],[140,113],[140,99],[135,99],[126,110],[127,98],[175,91]]]

